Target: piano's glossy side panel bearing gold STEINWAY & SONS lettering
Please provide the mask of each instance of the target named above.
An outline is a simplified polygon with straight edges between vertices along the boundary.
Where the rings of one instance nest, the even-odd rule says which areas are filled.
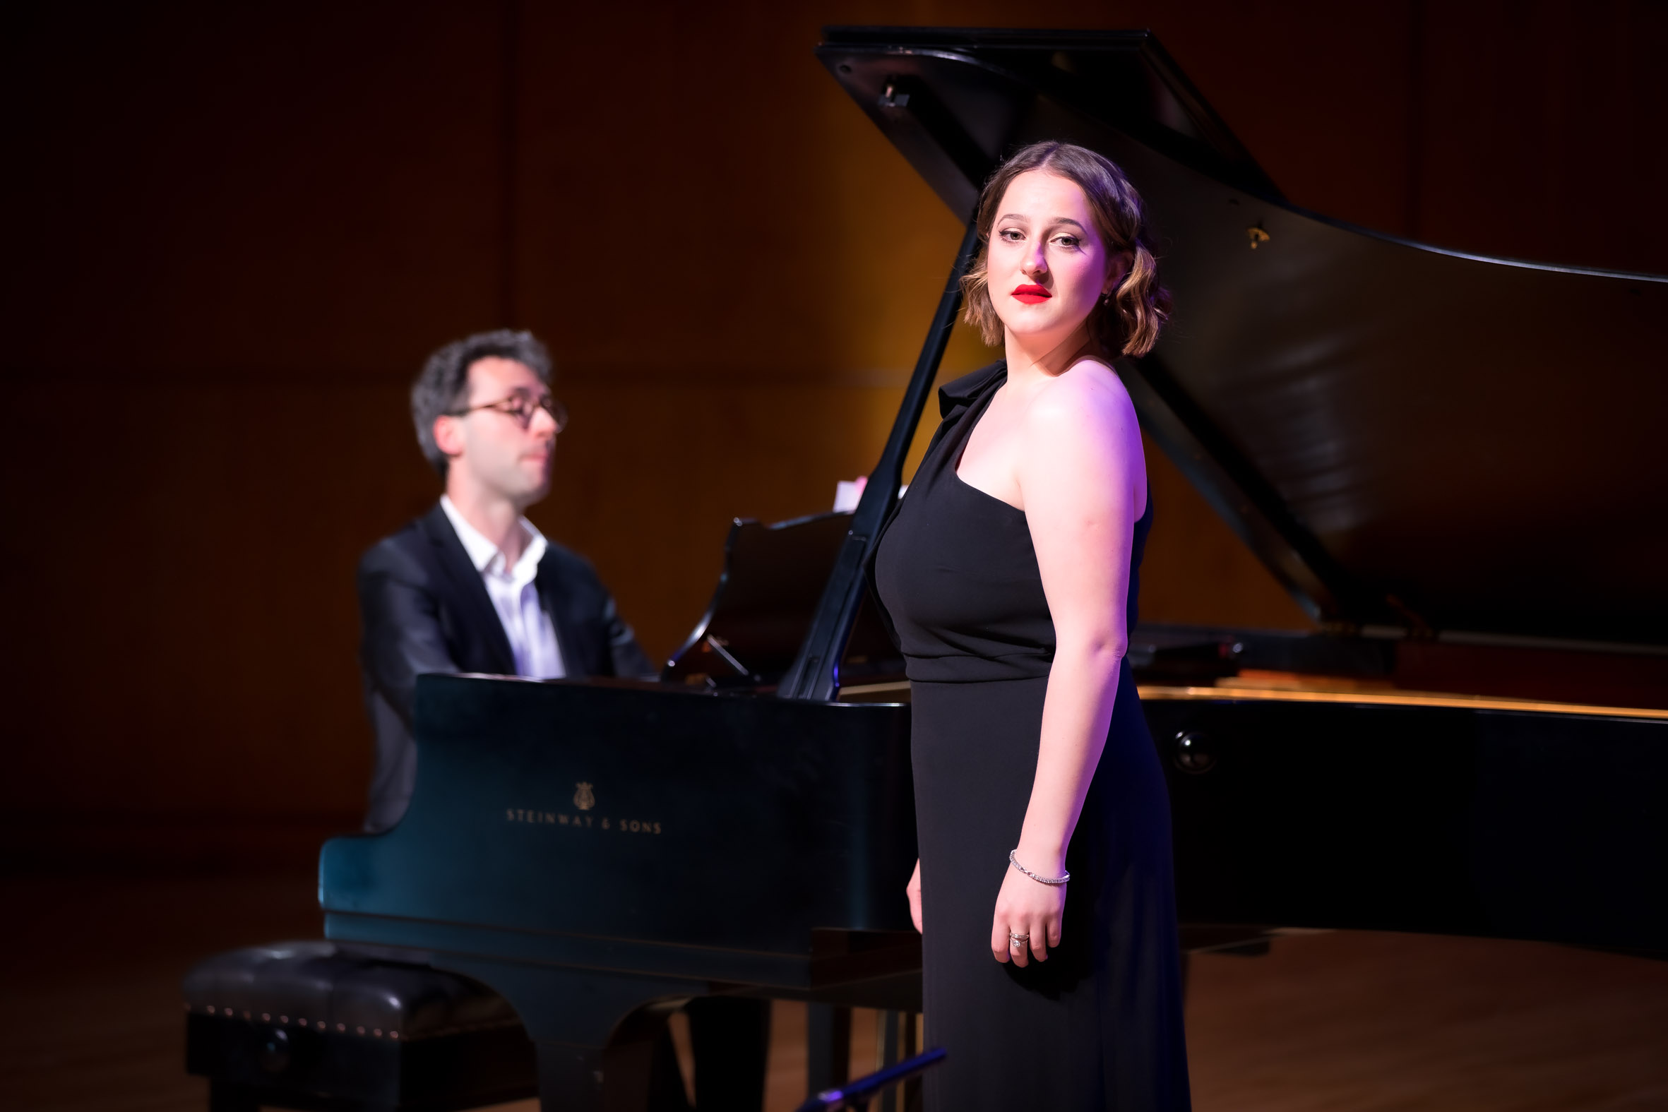
[[[814,929],[909,929],[907,730],[884,704],[422,677],[412,807],[325,845],[327,934],[809,989]]]

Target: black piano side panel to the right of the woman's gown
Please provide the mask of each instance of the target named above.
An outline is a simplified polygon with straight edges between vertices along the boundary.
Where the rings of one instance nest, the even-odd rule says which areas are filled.
[[[1668,720],[1149,699],[1188,924],[1668,955]]]

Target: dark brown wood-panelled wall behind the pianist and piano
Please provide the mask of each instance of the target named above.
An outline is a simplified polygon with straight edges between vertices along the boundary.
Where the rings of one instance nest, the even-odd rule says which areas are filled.
[[[467,332],[549,342],[574,423],[532,517],[676,647],[731,517],[879,455],[959,238],[819,27],[1032,15],[1151,27],[1299,205],[1668,272],[1646,0],[8,5],[5,860],[357,824],[354,564],[437,495],[405,387]],[[1149,458],[1143,615],[1301,627]]]

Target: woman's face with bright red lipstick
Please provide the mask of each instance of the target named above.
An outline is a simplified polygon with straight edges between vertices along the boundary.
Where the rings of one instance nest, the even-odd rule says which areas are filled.
[[[1048,170],[1009,182],[986,260],[996,315],[1027,347],[1068,340],[1123,277],[1123,258],[1094,230],[1083,188]]]

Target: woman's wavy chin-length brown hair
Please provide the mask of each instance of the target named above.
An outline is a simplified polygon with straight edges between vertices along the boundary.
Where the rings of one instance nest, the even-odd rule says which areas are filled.
[[[966,307],[962,318],[979,328],[991,347],[1002,342],[1002,322],[991,303],[986,265],[991,250],[991,225],[1007,187],[1021,173],[1044,170],[1074,182],[1089,202],[1094,230],[1114,255],[1124,255],[1129,268],[1114,297],[1096,302],[1089,313],[1089,335],[1104,352],[1146,355],[1158,343],[1158,332],[1169,320],[1169,290],[1158,283],[1158,258],[1148,245],[1151,233],[1141,195],[1124,172],[1088,147],[1044,142],[1021,147],[1004,162],[979,195],[979,255],[961,280]]]

